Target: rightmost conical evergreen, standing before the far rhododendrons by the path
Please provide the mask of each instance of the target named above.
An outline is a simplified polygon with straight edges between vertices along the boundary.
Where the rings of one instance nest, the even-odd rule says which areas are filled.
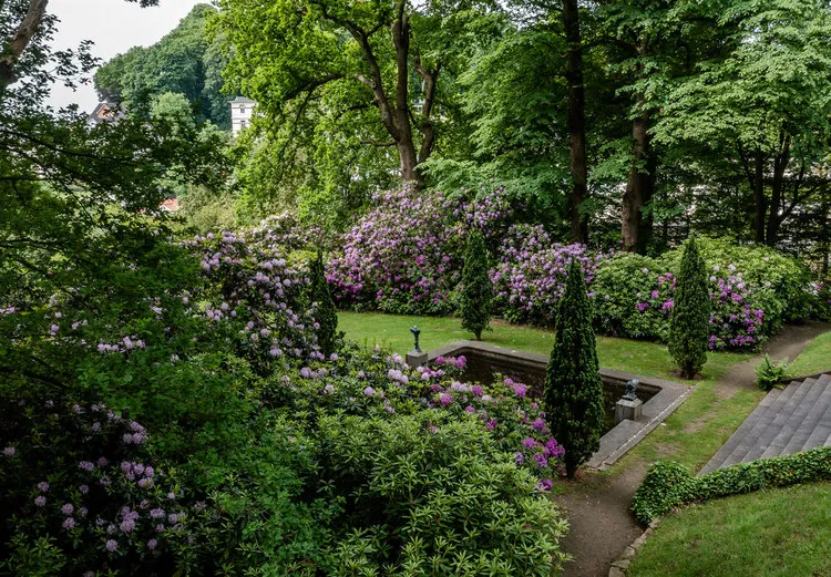
[[[693,379],[707,362],[710,336],[709,287],[695,237],[687,240],[677,276],[675,307],[669,321],[669,353],[684,379]]]

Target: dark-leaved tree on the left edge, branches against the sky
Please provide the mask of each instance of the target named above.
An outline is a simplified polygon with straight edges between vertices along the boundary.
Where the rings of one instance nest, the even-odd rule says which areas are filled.
[[[45,10],[0,3],[0,293],[20,310],[55,292],[102,297],[68,279],[83,269],[112,285],[125,266],[120,249],[148,240],[142,215],[183,183],[216,184],[224,167],[216,133],[168,114],[90,126],[85,113],[49,109],[50,84],[75,82],[95,61],[88,44],[51,50]]]

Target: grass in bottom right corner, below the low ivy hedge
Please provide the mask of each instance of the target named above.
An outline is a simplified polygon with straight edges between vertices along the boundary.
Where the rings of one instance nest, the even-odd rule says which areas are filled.
[[[831,575],[831,483],[761,491],[668,515],[630,577]]]

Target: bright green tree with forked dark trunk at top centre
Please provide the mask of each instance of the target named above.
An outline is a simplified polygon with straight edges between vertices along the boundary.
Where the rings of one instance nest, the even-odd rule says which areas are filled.
[[[258,102],[294,163],[304,136],[321,131],[343,145],[394,151],[406,182],[452,116],[442,91],[465,23],[482,11],[458,2],[343,3],[336,0],[222,0],[218,29],[230,51],[228,78]],[[340,122],[341,116],[351,120]],[[306,141],[308,144],[308,141]],[[318,141],[319,144],[319,141]]]

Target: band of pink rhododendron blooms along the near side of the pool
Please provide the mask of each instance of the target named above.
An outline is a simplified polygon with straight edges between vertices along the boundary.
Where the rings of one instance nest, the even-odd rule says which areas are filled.
[[[269,394],[296,414],[325,410],[389,416],[428,411],[475,418],[517,465],[551,488],[563,449],[551,437],[540,403],[527,396],[525,384],[512,379],[489,385],[460,382],[465,362],[464,357],[439,357],[431,367],[409,369],[399,354],[356,349],[284,374]]]

